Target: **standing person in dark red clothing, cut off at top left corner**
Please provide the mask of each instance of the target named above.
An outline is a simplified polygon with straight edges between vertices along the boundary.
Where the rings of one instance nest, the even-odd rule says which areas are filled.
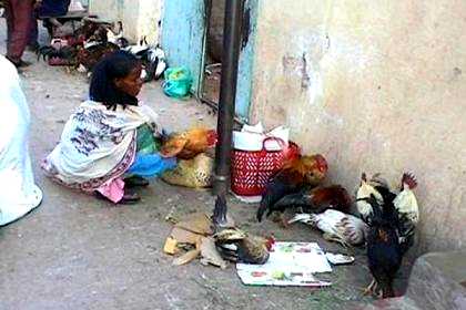
[[[17,68],[29,65],[22,60],[22,54],[30,42],[32,28],[32,14],[34,7],[39,7],[41,0],[7,0],[7,59]]]

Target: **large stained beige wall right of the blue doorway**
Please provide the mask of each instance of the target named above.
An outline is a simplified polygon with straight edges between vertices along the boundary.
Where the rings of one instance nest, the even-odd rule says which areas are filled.
[[[465,1],[260,0],[251,118],[291,126],[352,190],[414,172],[418,249],[460,248],[465,71]]]

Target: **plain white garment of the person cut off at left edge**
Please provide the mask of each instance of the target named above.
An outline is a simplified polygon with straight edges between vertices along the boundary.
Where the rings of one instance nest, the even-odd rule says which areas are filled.
[[[17,69],[0,55],[0,226],[39,206],[28,147],[29,107]]]

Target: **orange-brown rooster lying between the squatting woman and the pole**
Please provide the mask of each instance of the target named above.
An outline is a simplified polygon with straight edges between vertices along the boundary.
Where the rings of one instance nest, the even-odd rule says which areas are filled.
[[[213,147],[216,140],[217,135],[213,130],[193,128],[169,136],[163,143],[160,154],[163,157],[176,156],[180,159],[192,159]]]

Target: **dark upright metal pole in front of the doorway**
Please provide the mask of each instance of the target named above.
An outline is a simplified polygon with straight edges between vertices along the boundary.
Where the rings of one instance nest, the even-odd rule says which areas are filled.
[[[217,227],[226,224],[226,194],[230,188],[230,158],[232,152],[243,6],[244,0],[226,0],[217,117],[219,144],[215,152],[214,193],[216,195],[216,202],[213,221]]]

